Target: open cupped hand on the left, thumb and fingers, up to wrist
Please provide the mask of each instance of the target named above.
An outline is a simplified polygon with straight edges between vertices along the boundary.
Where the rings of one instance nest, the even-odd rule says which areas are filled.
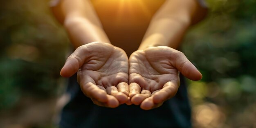
[[[128,57],[121,48],[98,42],[78,47],[60,74],[76,72],[81,90],[94,104],[115,108],[128,100]]]

